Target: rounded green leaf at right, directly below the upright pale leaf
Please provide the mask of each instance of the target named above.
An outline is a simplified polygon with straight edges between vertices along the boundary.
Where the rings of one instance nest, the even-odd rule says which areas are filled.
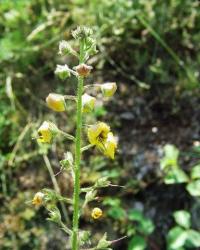
[[[189,178],[186,173],[179,168],[171,169],[164,177],[165,184],[175,184],[188,182]]]

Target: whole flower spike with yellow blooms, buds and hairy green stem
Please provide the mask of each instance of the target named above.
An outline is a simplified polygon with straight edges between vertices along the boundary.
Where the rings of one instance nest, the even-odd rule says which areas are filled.
[[[96,104],[96,97],[91,96],[87,93],[89,88],[94,88],[96,91],[100,91],[103,98],[111,98],[117,90],[117,85],[115,82],[106,82],[103,84],[92,84],[84,85],[84,81],[93,69],[91,65],[86,62],[89,56],[96,53],[96,43],[92,37],[92,31],[86,27],[78,27],[73,33],[73,37],[77,39],[79,43],[79,50],[72,48],[72,46],[67,41],[61,41],[59,44],[58,54],[65,56],[67,54],[73,55],[79,59],[79,64],[73,68],[68,65],[57,65],[55,74],[61,80],[65,80],[67,77],[75,76],[78,81],[77,93],[73,95],[62,95],[58,93],[50,93],[46,97],[47,107],[55,112],[66,112],[67,105],[66,100],[71,100],[76,102],[76,134],[75,136],[70,135],[61,129],[59,129],[54,123],[49,121],[44,121],[38,129],[38,143],[48,143],[51,144],[55,136],[64,136],[66,139],[71,140],[75,143],[75,151],[67,152],[65,154],[65,159],[60,161],[61,170],[68,171],[70,169],[71,175],[74,181],[74,194],[72,198],[64,198],[60,193],[55,193],[55,191],[44,190],[43,192],[37,192],[33,197],[32,204],[35,206],[44,205],[51,203],[47,206],[49,212],[49,220],[54,221],[59,224],[61,228],[69,234],[71,238],[72,250],[78,250],[78,224],[80,214],[84,213],[84,207],[88,205],[93,200],[96,200],[97,190],[102,187],[109,186],[110,182],[106,177],[99,179],[94,186],[81,189],[80,187],[80,160],[81,155],[85,150],[95,146],[100,152],[102,152],[106,157],[114,159],[117,150],[117,140],[114,137],[110,126],[104,122],[96,122],[95,124],[87,125],[86,135],[89,141],[88,145],[82,147],[82,134],[83,134],[83,119],[87,113],[93,112]],[[55,182],[55,180],[54,180]],[[81,192],[86,192],[85,201],[82,204],[82,210],[80,209],[81,201],[79,199],[79,194]],[[56,206],[56,202],[67,202],[73,205],[73,225],[72,230],[70,230],[62,222],[62,216],[59,209]],[[49,209],[50,207],[50,209]],[[63,203],[61,204],[63,207]],[[81,211],[81,213],[80,213]],[[99,219],[102,217],[102,210],[95,207],[91,211],[91,217],[93,219]],[[104,237],[105,238],[105,237]],[[97,246],[100,246],[106,242],[107,245],[110,244],[109,241],[105,239],[101,240]],[[80,240],[81,242],[83,239]],[[103,242],[103,243],[102,243]],[[87,242],[85,242],[87,243]],[[96,248],[95,248],[96,249]],[[99,249],[99,248],[98,248]]]

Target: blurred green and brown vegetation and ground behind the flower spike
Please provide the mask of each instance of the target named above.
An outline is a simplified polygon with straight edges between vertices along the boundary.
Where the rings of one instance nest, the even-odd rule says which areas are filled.
[[[42,119],[72,131],[71,115],[48,112],[50,91],[74,93],[54,76],[58,43],[77,25],[94,29],[99,53],[93,82],[116,81],[118,93],[91,120],[109,119],[119,136],[116,161],[97,153],[83,159],[82,185],[109,176],[124,188],[99,194],[104,217],[82,219],[94,239],[128,235],[114,249],[200,247],[200,5],[198,0],[0,1],[0,248],[60,250],[67,244],[33,194],[57,188],[52,178],[70,145],[38,148]],[[64,59],[63,59],[64,60]],[[72,64],[72,59],[67,58]],[[52,166],[49,165],[51,160]],[[98,170],[98,173],[97,173]],[[56,177],[71,195],[67,174]],[[65,212],[63,213],[65,214]],[[71,211],[69,211],[71,216]]]

